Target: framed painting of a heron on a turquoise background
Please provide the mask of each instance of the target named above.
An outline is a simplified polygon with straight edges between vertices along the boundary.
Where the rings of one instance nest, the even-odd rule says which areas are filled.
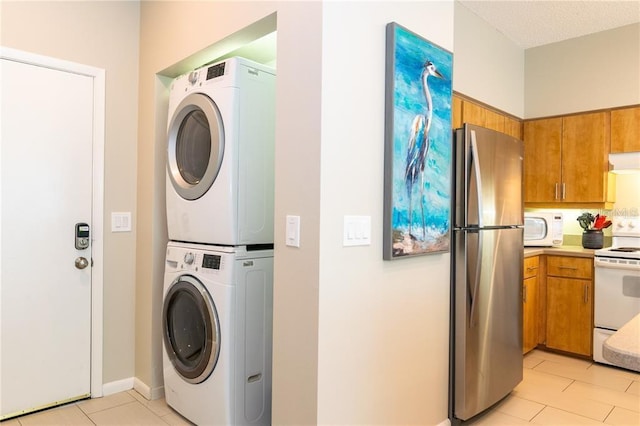
[[[449,251],[453,54],[387,24],[383,259]]]

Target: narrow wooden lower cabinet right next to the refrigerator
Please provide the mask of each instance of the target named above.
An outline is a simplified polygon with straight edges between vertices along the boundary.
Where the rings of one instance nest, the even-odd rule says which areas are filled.
[[[538,346],[538,263],[539,257],[524,259],[522,281],[522,353]]]

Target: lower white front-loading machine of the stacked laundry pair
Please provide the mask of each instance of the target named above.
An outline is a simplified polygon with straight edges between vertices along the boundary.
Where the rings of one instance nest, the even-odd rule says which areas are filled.
[[[197,425],[269,425],[273,250],[169,242],[167,404]]]

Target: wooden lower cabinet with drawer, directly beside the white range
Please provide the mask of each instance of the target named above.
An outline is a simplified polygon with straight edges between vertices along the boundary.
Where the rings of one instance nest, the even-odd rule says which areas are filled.
[[[591,356],[593,260],[547,257],[546,347]]]

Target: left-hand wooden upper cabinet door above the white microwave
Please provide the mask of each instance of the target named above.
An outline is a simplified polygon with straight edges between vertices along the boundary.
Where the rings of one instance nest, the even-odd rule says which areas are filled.
[[[562,185],[562,118],[524,123],[524,202],[559,200]]]

